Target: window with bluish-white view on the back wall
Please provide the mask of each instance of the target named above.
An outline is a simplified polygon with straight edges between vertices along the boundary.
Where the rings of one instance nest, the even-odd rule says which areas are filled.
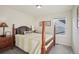
[[[65,18],[57,18],[54,19],[55,25],[56,25],[56,34],[65,34],[65,25],[66,25],[66,20]]]

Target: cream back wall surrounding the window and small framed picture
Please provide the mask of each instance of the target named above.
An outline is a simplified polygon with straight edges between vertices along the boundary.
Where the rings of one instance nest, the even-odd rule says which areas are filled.
[[[42,20],[42,18],[45,18],[44,20],[47,20],[47,21],[52,21],[54,20],[54,18],[63,18],[63,17],[66,17],[67,18],[67,21],[66,21],[66,34],[63,36],[61,35],[57,35],[57,38],[56,38],[56,43],[60,43],[60,44],[64,44],[64,45],[68,45],[68,46],[71,46],[71,15],[72,15],[72,12],[71,10],[70,11],[66,11],[66,12],[62,12],[62,13],[55,13],[55,14],[52,14],[52,15],[48,15],[48,16],[42,16],[42,17],[37,17],[36,18],[36,25],[35,27],[39,27],[39,22]],[[53,24],[52,24],[53,25]],[[53,26],[51,26],[53,27]],[[50,29],[48,29],[50,30]]]

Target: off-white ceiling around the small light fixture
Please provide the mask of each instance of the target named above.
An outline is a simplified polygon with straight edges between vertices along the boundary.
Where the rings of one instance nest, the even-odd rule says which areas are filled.
[[[33,16],[45,16],[65,12],[73,8],[72,5],[42,5],[40,9],[36,8],[35,5],[11,5],[9,7]]]

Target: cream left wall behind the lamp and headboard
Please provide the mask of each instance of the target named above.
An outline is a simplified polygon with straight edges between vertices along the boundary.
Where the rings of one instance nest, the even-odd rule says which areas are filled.
[[[2,21],[8,24],[9,27],[6,28],[8,30],[11,30],[12,24],[15,24],[16,27],[20,25],[34,25],[34,17],[15,9],[11,9],[8,6],[0,6],[0,22]],[[0,34],[1,33],[2,31],[0,31]]]

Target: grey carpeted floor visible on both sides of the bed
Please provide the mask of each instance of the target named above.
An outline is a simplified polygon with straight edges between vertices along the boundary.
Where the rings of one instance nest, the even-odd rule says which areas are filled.
[[[24,51],[20,50],[17,47],[14,47],[13,49],[4,51],[1,54],[27,54],[27,53],[25,53]],[[73,54],[73,50],[69,46],[57,44],[50,50],[49,54]]]

